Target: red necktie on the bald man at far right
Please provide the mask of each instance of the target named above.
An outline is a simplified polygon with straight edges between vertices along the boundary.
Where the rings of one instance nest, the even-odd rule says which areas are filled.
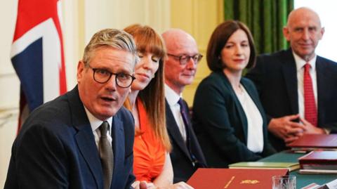
[[[304,118],[312,125],[317,126],[317,108],[315,103],[314,89],[310,77],[309,63],[304,65],[303,89],[304,89]]]

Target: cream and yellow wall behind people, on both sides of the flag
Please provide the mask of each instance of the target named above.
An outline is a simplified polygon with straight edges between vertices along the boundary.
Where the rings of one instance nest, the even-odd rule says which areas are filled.
[[[113,27],[123,29],[140,23],[159,33],[170,27],[186,30],[197,40],[205,56],[206,45],[223,18],[223,0],[72,0],[62,1],[62,32],[65,44],[67,89],[76,84],[77,62],[94,32]],[[18,0],[0,1],[0,188],[4,185],[15,138],[20,82],[10,61]],[[192,105],[197,84],[209,74],[206,58],[199,63],[197,76],[183,96]]]

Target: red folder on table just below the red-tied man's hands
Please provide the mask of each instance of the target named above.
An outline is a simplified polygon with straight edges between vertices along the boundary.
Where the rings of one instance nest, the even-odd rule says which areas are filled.
[[[337,134],[305,134],[288,146],[291,148],[337,149]]]

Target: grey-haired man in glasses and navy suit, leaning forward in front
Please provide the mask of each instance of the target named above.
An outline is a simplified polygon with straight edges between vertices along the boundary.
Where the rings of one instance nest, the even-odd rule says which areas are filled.
[[[77,66],[77,86],[22,126],[4,188],[131,188],[134,122],[122,105],[136,60],[126,32],[94,34]]]

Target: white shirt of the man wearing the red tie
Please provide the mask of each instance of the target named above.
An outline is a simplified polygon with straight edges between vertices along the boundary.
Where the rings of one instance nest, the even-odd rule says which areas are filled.
[[[304,74],[304,65],[307,63],[305,60],[300,58],[296,55],[296,53],[293,53],[293,57],[295,58],[296,63],[296,70],[297,70],[297,91],[298,91],[298,113],[300,114],[300,117],[304,118],[304,89],[303,89],[303,74]],[[317,74],[316,74],[316,58],[312,58],[309,61],[309,64],[311,65],[310,68],[310,77],[312,80],[312,89],[314,90],[314,96],[315,96],[315,103],[317,107]]]

